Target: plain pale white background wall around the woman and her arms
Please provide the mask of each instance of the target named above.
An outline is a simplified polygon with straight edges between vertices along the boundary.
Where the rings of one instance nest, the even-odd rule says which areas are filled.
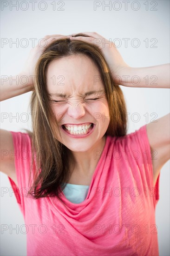
[[[97,1],[96,4],[101,6],[94,10],[94,1],[37,1],[33,10],[30,1],[19,1],[19,9],[16,10],[16,7],[12,7],[16,1],[1,1],[1,75],[16,75],[20,72],[30,49],[34,47],[31,38],[36,39],[36,45],[39,39],[45,35],[66,35],[86,31],[95,31],[105,38],[115,41],[119,52],[131,67],[148,67],[168,63],[170,2],[168,0],[125,1],[127,9],[125,9],[124,1],[110,2],[110,10],[109,7],[104,8],[104,4],[109,4],[109,1]],[[8,4],[8,6],[3,7],[2,4],[3,6]],[[26,40],[22,40],[23,38]],[[127,47],[125,47],[123,38],[130,39]],[[135,38],[137,40],[133,40]],[[19,43],[12,44],[17,39]],[[5,40],[7,44],[2,43]],[[148,46],[146,45],[147,40]],[[137,42],[140,43],[138,47],[136,47]],[[154,42],[156,43],[153,45]],[[157,119],[169,113],[169,89],[152,88],[152,86],[150,88],[121,86],[121,89],[127,103],[127,112],[130,113],[128,133],[137,130],[147,122],[144,116],[146,113],[149,116],[148,122],[154,117],[151,117],[152,113],[156,113]],[[1,102],[1,115],[2,113],[7,113],[9,117],[18,115],[18,118],[12,120],[9,117],[5,120],[1,119],[2,129],[21,132],[24,132],[22,128],[31,129],[30,96],[31,92]],[[22,113],[28,114],[28,121],[25,122]],[[134,113],[138,113],[139,121],[136,121],[137,115],[134,116],[134,119],[131,118]],[[170,161],[161,169],[160,200],[156,209],[161,256],[170,255],[169,171]],[[3,173],[0,176],[1,189],[10,189],[7,176]],[[0,237],[0,255],[26,255],[26,235],[22,234],[20,230],[18,234],[16,234],[16,230],[10,232],[10,225],[14,228],[17,224],[19,227],[24,224],[14,195],[1,194],[0,218],[1,225],[7,224],[9,227]]]

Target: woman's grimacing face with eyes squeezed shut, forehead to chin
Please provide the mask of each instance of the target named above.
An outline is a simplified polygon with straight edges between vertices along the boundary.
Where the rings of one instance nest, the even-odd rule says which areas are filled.
[[[57,139],[74,152],[99,148],[110,117],[101,75],[93,61],[79,54],[50,62],[47,91],[59,122],[61,138]]]

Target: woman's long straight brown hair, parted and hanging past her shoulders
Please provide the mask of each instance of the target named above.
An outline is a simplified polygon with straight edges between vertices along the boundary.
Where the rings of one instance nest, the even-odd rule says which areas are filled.
[[[77,34],[76,36],[87,36]],[[110,123],[105,135],[124,136],[126,127],[126,104],[124,95],[118,85],[114,85],[111,70],[104,55],[92,43],[81,40],[62,38],[53,41],[41,54],[35,67],[35,82],[31,96],[33,132],[28,132],[32,141],[33,184],[28,191],[34,199],[46,196],[59,197],[68,183],[74,168],[71,150],[56,138],[60,135],[59,124],[52,113],[46,88],[46,71],[49,63],[70,55],[85,54],[98,67],[108,101]],[[66,159],[70,161],[66,161]],[[31,181],[31,170],[29,182]]]

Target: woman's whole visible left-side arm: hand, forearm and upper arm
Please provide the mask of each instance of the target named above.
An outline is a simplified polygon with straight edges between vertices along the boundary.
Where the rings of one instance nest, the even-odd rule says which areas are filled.
[[[63,35],[47,35],[46,47],[52,42],[53,39],[60,39]],[[35,65],[46,48],[42,45],[32,48],[28,59],[26,60],[23,70],[17,76],[1,76],[0,81],[0,101],[10,99],[12,97],[25,94],[34,90],[34,69]],[[17,81],[14,81],[16,80]],[[10,131],[0,129],[0,171],[7,174],[17,184],[17,177],[14,165],[14,153],[13,138]],[[18,185],[18,184],[17,184]]]

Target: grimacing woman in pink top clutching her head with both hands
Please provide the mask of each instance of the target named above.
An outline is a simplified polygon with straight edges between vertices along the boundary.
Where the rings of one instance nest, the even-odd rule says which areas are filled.
[[[45,39],[19,74],[27,86],[6,83],[1,93],[6,100],[33,90],[33,133],[1,130],[1,149],[15,153],[3,155],[1,170],[26,222],[27,255],[158,255],[169,115],[127,135],[119,85],[148,87],[154,74],[157,88],[169,88],[169,65],[129,67],[96,33]]]

